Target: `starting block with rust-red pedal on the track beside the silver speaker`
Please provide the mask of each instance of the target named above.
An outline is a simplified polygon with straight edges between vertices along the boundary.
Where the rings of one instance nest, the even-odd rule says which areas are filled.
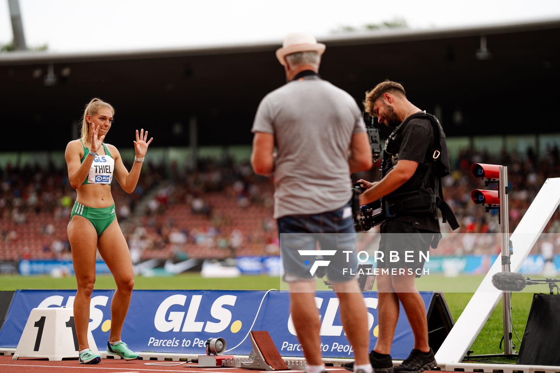
[[[249,357],[226,358],[223,366],[268,371],[291,369],[286,365],[267,330],[254,330],[250,333],[250,337],[253,351]]]

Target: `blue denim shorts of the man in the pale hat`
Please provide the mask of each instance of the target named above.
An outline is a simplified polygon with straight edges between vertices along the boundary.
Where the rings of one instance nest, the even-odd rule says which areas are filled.
[[[330,282],[356,278],[356,232],[351,204],[326,213],[278,218],[284,281],[314,281],[325,272]],[[319,244],[323,253],[316,251]],[[317,263],[316,263],[317,262]]]

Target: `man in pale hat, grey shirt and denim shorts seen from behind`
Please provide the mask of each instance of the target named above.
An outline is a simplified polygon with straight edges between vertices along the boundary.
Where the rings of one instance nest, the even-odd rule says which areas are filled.
[[[356,276],[350,173],[371,168],[371,148],[356,101],[319,77],[325,50],[310,34],[290,34],[277,50],[288,83],[263,98],[253,125],[251,164],[274,173],[274,218],[290,286],[291,312],[308,373],[324,371],[315,306],[315,255],[331,249],[326,273],[340,300],[340,319],[352,347],[354,371],[371,373],[367,313]],[[276,148],[276,157],[274,156]],[[347,258],[347,254],[352,252]],[[325,258],[326,259],[326,258]],[[318,263],[315,263],[315,262]],[[323,261],[323,265],[324,265]],[[392,370],[392,365],[391,365]],[[381,373],[391,373],[384,371]]]

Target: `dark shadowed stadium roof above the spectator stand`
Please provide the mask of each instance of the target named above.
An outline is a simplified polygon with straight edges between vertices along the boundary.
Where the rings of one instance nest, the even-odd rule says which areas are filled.
[[[360,103],[391,79],[435,113],[448,136],[557,133],[560,20],[433,30],[382,30],[320,38],[321,75]],[[481,48],[486,42],[487,49]],[[157,146],[250,144],[260,100],[285,83],[281,41],[189,49],[0,54],[2,150],[64,149],[92,97],[116,108],[108,141],[129,146],[150,129]],[[483,45],[482,45],[483,46]],[[482,50],[481,50],[482,49]],[[53,130],[54,129],[54,130]]]

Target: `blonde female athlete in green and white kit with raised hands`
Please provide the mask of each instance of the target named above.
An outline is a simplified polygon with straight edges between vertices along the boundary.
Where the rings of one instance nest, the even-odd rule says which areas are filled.
[[[92,352],[87,341],[90,322],[91,292],[95,284],[95,257],[99,249],[116,282],[111,301],[111,325],[107,352],[125,360],[138,355],[120,339],[124,318],[128,312],[134,273],[127,242],[115,216],[115,202],[111,196],[113,175],[128,193],[136,188],[144,155],[153,138],[146,142],[148,131],[142,129],[134,141],[134,165],[130,172],[124,167],[119,150],[103,140],[113,122],[115,110],[99,98],[94,98],[83,112],[81,138],[66,147],[66,163],[70,184],[77,191],[76,202],[68,224],[68,240],[78,290],[74,299],[74,323],[78,337],[79,358],[84,364],[97,364],[101,357]]]

